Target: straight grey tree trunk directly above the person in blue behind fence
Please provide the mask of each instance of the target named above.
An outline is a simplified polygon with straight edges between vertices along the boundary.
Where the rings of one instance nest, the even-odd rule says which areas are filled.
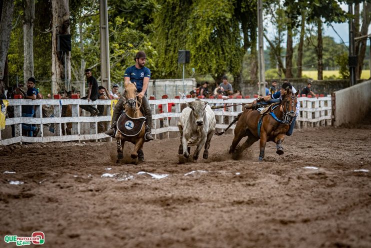
[[[33,77],[33,20],[35,18],[35,1],[24,1],[23,14],[23,79],[27,82],[29,77]]]

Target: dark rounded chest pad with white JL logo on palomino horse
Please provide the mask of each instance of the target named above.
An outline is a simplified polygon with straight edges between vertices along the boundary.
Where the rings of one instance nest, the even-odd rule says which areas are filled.
[[[126,113],[122,113],[117,120],[117,130],[125,136],[136,136],[141,131],[145,120],[144,116],[131,118]]]

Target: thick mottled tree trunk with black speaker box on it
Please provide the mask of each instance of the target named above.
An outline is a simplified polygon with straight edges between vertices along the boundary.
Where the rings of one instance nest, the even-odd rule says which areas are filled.
[[[51,36],[51,90],[53,94],[56,94],[60,89],[64,89],[66,86],[65,83],[68,82],[68,79],[70,81],[71,78],[70,52],[57,51],[57,35],[70,34],[68,0],[52,0],[51,7],[53,13],[53,30]],[[64,63],[64,61],[66,62]],[[64,69],[67,71],[67,78],[64,76]]]

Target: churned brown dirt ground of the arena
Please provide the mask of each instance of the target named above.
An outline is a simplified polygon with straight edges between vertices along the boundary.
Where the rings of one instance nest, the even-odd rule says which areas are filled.
[[[178,138],[140,164],[116,164],[114,142],[0,148],[0,247],[33,231],[40,247],[371,247],[369,123],[295,130],[263,162],[258,143],[232,160],[232,138],[196,163]]]

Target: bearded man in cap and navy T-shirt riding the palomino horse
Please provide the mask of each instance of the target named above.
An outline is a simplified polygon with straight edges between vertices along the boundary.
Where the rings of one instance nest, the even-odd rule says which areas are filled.
[[[144,139],[145,141],[150,141],[153,139],[152,134],[151,134],[151,128],[152,128],[152,113],[151,112],[152,111],[149,106],[148,99],[145,96],[145,93],[148,88],[149,79],[150,79],[150,70],[144,66],[146,56],[143,51],[137,52],[134,60],[135,60],[135,65],[127,68],[123,77],[124,77],[125,84],[134,83],[136,85],[137,98],[139,102],[141,101],[141,105],[144,108],[144,115],[146,118]],[[105,134],[114,137],[116,133],[116,121],[118,117],[120,116],[121,111],[123,110],[124,102],[125,102],[125,99],[124,99],[124,95],[122,94],[117,104],[114,106],[112,121],[111,121],[112,125],[106,132],[104,132]]]

